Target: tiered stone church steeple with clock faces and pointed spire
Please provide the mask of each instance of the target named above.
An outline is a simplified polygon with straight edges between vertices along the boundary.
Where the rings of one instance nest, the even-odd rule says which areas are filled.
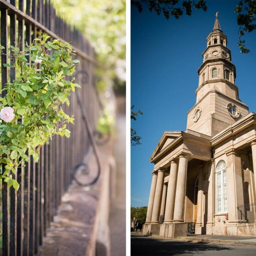
[[[248,114],[235,85],[235,66],[216,13],[212,32],[206,38],[203,64],[198,69],[196,104],[188,111],[187,129],[214,136]]]

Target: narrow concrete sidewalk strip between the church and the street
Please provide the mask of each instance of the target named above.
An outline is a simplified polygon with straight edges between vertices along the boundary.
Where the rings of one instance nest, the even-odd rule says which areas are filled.
[[[133,235],[141,235],[141,232],[131,232]],[[178,238],[161,238],[160,236],[153,235],[151,237],[158,239],[166,239],[173,241],[185,242],[203,242],[215,244],[229,244],[229,245],[253,245],[256,246],[256,236],[233,236],[233,235],[188,235],[179,236]],[[150,236],[148,236],[150,238]]]

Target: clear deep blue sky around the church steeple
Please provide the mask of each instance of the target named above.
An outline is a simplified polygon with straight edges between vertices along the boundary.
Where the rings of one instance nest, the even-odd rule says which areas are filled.
[[[196,100],[197,69],[202,64],[206,37],[211,33],[219,11],[221,29],[227,35],[227,48],[236,66],[235,84],[240,99],[256,112],[256,31],[244,40],[251,50],[238,48],[236,14],[238,1],[207,1],[207,12],[194,10],[178,21],[150,13],[139,14],[131,6],[131,104],[144,112],[131,127],[143,137],[141,145],[131,147],[131,206],[146,206],[151,185],[149,162],[166,130],[186,130],[187,111]]]

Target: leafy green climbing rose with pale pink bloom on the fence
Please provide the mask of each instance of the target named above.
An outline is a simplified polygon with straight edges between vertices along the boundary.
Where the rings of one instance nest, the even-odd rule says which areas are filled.
[[[67,123],[73,116],[63,111],[69,106],[69,95],[75,87],[72,76],[79,60],[70,44],[36,38],[24,51],[11,46],[13,65],[4,63],[8,70],[15,68],[16,78],[7,82],[0,97],[0,165],[2,178],[8,186],[18,189],[12,178],[22,162],[33,156],[38,161],[38,150],[52,136],[70,137]],[[0,46],[3,50],[3,46]],[[31,60],[31,62],[29,61]]]

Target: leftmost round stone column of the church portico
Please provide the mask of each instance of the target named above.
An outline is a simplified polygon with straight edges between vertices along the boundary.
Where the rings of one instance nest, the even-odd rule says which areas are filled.
[[[159,222],[159,210],[160,210],[160,203],[162,200],[164,177],[165,177],[164,170],[158,170],[157,182],[156,182],[156,192],[155,192],[155,198],[154,198],[151,223]]]

